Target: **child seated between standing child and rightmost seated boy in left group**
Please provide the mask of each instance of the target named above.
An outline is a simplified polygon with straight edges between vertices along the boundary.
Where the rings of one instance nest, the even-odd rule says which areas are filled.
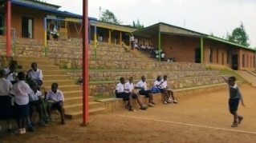
[[[31,85],[31,88],[33,90],[32,93],[29,94],[29,99],[30,99],[30,109],[32,110],[30,113],[30,121],[33,124],[35,121],[35,113],[36,111],[39,111],[39,125],[40,126],[48,126],[44,121],[43,121],[43,104],[41,102],[41,97],[42,93],[41,91],[38,90],[38,85],[34,82]]]

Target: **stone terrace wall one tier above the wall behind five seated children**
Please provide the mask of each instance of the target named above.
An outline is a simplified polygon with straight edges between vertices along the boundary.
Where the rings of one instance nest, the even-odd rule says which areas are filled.
[[[65,71],[65,70],[64,70]],[[72,80],[78,80],[83,77],[82,70],[66,70],[65,73],[71,77]],[[90,81],[119,81],[120,77],[133,77],[134,79],[140,79],[144,75],[147,79],[156,79],[157,76],[167,75],[169,78],[178,77],[200,77],[200,76],[214,76],[218,75],[217,70],[180,70],[180,71],[90,71]]]

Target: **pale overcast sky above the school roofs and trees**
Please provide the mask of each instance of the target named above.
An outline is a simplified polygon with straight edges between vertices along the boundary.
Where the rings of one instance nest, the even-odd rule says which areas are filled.
[[[82,14],[83,0],[47,0],[67,10]],[[99,18],[101,12],[110,10],[124,25],[140,20],[144,26],[158,22],[180,26],[204,34],[226,36],[243,22],[256,47],[256,0],[88,0],[89,16]]]

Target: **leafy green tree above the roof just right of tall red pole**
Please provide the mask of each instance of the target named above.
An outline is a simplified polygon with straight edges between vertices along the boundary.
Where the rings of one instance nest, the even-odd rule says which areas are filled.
[[[118,20],[114,13],[112,13],[110,10],[105,10],[102,12],[99,21],[101,22],[108,22],[112,24],[121,24],[120,20]]]

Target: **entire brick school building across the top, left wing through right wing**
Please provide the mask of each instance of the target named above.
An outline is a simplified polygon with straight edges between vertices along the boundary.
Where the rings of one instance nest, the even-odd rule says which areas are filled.
[[[60,37],[82,38],[82,15],[61,11],[61,6],[33,0],[0,0],[0,6],[2,36],[6,35],[5,27],[10,14],[10,26],[15,30],[16,38],[43,40],[45,23],[50,30],[58,26]],[[48,18],[47,22],[44,21],[45,18]],[[91,22],[91,40],[94,40],[96,34],[98,42],[117,45],[124,42],[129,45],[129,34],[132,33],[138,45],[160,48],[164,51],[165,58],[176,58],[177,62],[203,62],[228,66],[234,70],[255,70],[255,50],[221,38],[163,22],[136,30],[132,26],[99,22],[90,17],[88,19]]]

